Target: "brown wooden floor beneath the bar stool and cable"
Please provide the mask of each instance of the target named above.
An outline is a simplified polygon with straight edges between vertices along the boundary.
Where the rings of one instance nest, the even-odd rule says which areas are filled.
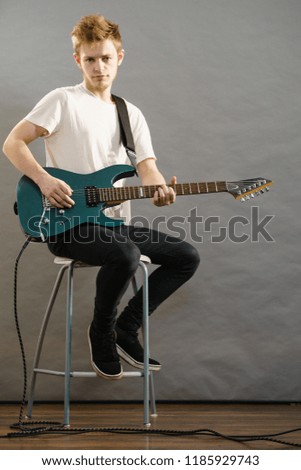
[[[33,420],[62,421],[61,404],[36,404]],[[294,404],[219,404],[159,403],[158,416],[152,418],[153,430],[211,429],[228,435],[263,435],[299,428],[300,431],[278,439],[301,446],[301,407]],[[0,435],[12,432],[10,425],[18,421],[19,405],[0,404]],[[143,427],[143,406],[140,403],[72,404],[71,427]],[[0,439],[0,449],[294,449],[268,441],[234,442],[209,435],[166,436],[161,434],[43,434]]]

